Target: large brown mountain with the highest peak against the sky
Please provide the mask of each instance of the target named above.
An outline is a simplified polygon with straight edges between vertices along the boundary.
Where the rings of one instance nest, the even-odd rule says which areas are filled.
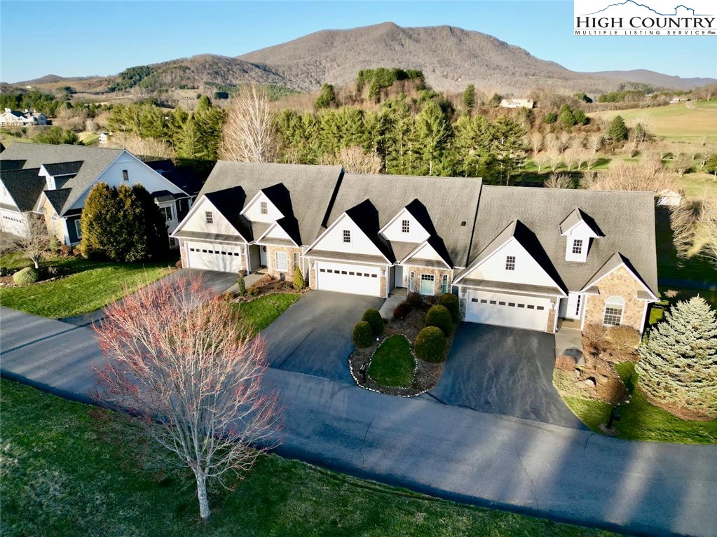
[[[612,80],[578,74],[488,34],[455,26],[402,28],[392,22],[349,30],[323,30],[239,57],[270,69],[303,91],[323,82],[349,84],[359,69],[421,69],[435,89],[467,84],[498,92],[534,87],[599,92]]]

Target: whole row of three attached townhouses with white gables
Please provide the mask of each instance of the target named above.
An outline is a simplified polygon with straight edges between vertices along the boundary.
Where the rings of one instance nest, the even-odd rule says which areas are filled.
[[[642,331],[657,300],[652,193],[219,162],[174,233],[183,266],[300,266],[311,289],[457,291],[466,321]]]

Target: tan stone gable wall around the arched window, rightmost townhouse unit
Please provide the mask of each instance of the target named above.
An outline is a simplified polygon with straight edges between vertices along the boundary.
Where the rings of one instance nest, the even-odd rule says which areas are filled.
[[[599,295],[587,296],[585,310],[585,324],[598,323],[602,325],[605,313],[605,302],[611,296],[619,296],[625,300],[625,308],[622,311],[622,324],[632,326],[637,332],[642,333],[643,312],[645,301],[637,300],[637,291],[644,291],[635,276],[624,266],[620,266],[608,276],[597,282],[600,290]]]

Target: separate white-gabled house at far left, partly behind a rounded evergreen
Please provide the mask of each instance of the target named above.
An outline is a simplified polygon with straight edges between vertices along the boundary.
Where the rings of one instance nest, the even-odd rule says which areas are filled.
[[[1,153],[0,170],[3,230],[24,236],[27,213],[39,213],[49,231],[68,246],[82,238],[82,208],[97,183],[143,185],[170,233],[191,207],[189,193],[123,149],[15,143]]]

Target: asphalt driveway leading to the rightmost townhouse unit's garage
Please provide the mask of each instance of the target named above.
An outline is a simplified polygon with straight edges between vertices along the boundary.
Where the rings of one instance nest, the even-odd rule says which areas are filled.
[[[552,334],[463,322],[429,395],[447,405],[584,429],[553,387],[554,347]]]

